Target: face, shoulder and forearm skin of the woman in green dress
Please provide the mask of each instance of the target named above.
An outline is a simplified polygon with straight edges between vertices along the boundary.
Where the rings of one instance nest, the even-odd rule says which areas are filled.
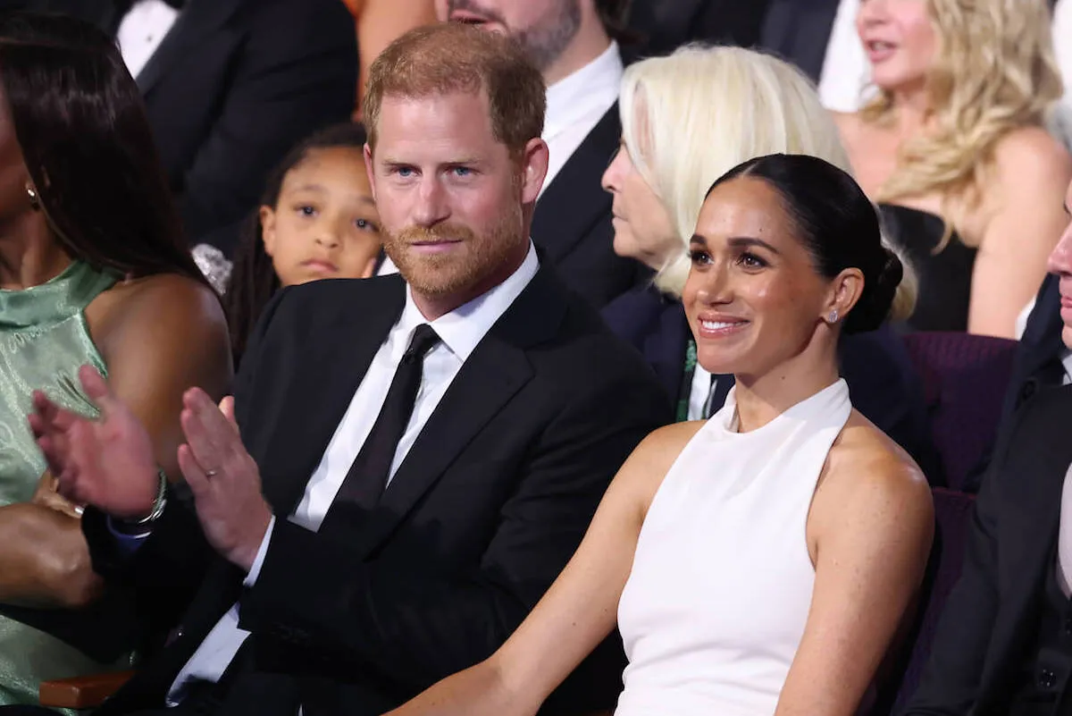
[[[5,107],[0,96],[0,106]],[[72,257],[51,235],[32,188],[6,109],[0,110],[0,287],[23,289],[58,275]],[[177,419],[182,391],[204,386],[220,396],[230,381],[223,311],[211,290],[179,275],[120,281],[86,308],[90,337],[113,389],[145,426],[148,456],[179,476]],[[157,478],[153,478],[154,480]],[[31,607],[77,608],[92,601],[93,573],[78,511],[42,475],[32,503],[0,507],[0,600]]]

